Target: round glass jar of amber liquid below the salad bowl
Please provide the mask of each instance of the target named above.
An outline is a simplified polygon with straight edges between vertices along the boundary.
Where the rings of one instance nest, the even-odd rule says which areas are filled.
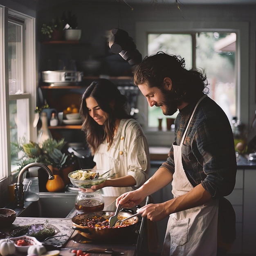
[[[95,192],[78,191],[75,208],[78,213],[102,211],[104,208],[104,199],[101,192],[99,190]]]

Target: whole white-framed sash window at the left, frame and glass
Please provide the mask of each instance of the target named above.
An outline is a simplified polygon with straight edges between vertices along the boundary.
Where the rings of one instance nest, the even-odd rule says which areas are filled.
[[[35,19],[0,7],[0,180],[17,169],[12,142],[35,139]]]

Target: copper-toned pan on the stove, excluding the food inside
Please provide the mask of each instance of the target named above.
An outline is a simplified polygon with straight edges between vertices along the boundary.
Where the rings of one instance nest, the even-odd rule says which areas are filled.
[[[136,216],[130,220],[130,225],[126,227],[119,228],[91,228],[91,227],[83,227],[81,223],[87,220],[88,218],[96,217],[104,217],[109,219],[111,216],[115,214],[115,211],[98,211],[92,213],[81,213],[72,218],[73,229],[77,230],[82,236],[89,238],[91,240],[104,240],[104,241],[126,241],[129,237],[134,238],[137,231],[137,223],[139,222],[139,218]],[[118,213],[119,216],[127,218],[132,215],[130,212],[120,211]]]

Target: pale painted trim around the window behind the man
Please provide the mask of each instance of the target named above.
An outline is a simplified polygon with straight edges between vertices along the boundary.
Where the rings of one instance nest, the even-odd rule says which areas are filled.
[[[249,23],[248,22],[137,22],[136,46],[143,58],[148,54],[149,33],[190,33],[198,31],[234,31],[237,34],[236,41],[236,90],[237,90],[237,117],[244,123],[249,122]],[[240,90],[243,85],[243,90]],[[242,104],[245,102],[245,104]],[[144,115],[148,115],[146,98],[139,93],[138,108]],[[150,146],[171,146],[174,134],[171,131],[152,132],[146,129],[144,132]],[[170,137],[171,136],[171,137]]]

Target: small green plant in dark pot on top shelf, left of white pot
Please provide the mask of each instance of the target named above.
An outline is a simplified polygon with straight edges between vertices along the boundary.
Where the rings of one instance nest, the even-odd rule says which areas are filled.
[[[48,39],[53,41],[63,40],[63,20],[58,16],[49,23],[44,23],[41,27],[41,33]]]

